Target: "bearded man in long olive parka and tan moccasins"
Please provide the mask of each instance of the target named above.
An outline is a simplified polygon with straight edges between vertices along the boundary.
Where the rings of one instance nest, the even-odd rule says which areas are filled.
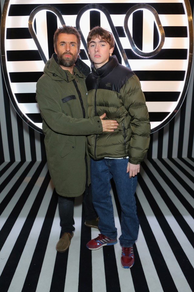
[[[88,177],[89,156],[86,135],[114,131],[114,120],[88,118],[85,76],[90,69],[78,59],[81,37],[72,26],[55,31],[55,53],[44,68],[36,85],[36,99],[43,118],[45,149],[52,182],[59,195],[61,238],[58,252],[65,252],[73,237],[74,198],[83,196],[86,226],[98,228]],[[85,190],[86,189],[86,190]]]

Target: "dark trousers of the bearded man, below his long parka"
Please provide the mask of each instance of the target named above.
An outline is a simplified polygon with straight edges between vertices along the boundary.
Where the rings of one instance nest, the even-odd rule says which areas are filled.
[[[92,220],[97,218],[96,211],[92,203],[92,189],[91,185],[88,186],[88,164],[87,157],[85,157],[86,165],[86,187],[85,192],[83,193],[83,209],[85,213],[85,220]],[[58,205],[59,205],[59,217],[60,217],[60,226],[61,234],[65,232],[72,232],[75,230],[73,226],[75,224],[73,219],[73,210],[74,210],[74,197],[64,197],[58,196]]]

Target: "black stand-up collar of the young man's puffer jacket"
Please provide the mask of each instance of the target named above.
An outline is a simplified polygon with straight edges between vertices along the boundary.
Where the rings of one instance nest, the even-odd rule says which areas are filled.
[[[109,61],[106,62],[102,67],[96,69],[94,63],[91,64],[92,73],[99,77],[108,75],[116,66],[119,65],[119,61],[115,55],[109,57]]]

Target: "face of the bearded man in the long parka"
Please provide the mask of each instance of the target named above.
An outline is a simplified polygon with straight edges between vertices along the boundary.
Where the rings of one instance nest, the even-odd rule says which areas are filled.
[[[55,53],[60,66],[72,67],[79,54],[77,37],[74,34],[60,33]]]

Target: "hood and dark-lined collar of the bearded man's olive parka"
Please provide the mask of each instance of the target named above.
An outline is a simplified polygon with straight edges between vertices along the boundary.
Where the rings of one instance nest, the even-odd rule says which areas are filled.
[[[75,62],[73,68],[74,75],[78,75],[80,78],[85,78],[90,73],[90,68],[79,58]],[[57,64],[57,55],[54,53],[44,67],[44,73],[48,74],[53,80],[66,80],[67,82],[72,81],[72,74],[68,70],[63,70],[59,64]]]

